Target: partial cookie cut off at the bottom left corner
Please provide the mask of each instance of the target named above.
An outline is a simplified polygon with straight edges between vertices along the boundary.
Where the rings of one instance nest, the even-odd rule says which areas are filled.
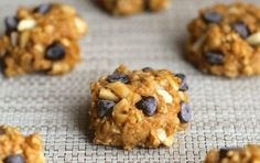
[[[0,163],[44,163],[39,134],[22,135],[15,128],[0,126]]]

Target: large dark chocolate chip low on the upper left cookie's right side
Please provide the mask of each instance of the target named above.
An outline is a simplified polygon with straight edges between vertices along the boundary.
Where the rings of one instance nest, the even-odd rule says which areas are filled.
[[[58,43],[53,43],[50,45],[45,52],[45,58],[51,61],[58,61],[64,58],[65,56],[65,50],[63,45]]]

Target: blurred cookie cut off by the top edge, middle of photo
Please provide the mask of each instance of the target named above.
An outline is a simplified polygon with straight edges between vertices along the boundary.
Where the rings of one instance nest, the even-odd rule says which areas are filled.
[[[170,6],[170,0],[101,0],[101,4],[115,15],[130,15],[144,10],[163,10]]]

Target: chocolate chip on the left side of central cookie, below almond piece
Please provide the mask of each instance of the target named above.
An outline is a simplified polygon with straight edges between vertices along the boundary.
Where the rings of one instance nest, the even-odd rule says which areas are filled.
[[[97,116],[102,118],[110,115],[115,105],[113,101],[99,99],[97,101]]]

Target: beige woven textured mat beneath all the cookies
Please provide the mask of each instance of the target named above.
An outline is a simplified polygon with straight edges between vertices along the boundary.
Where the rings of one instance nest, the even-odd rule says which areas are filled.
[[[1,0],[0,20],[14,14],[19,6],[48,1]],[[212,148],[260,143],[260,77],[230,80],[204,75],[182,57],[186,24],[199,8],[216,0],[174,0],[165,12],[130,18],[112,18],[90,0],[58,2],[75,6],[89,24],[89,33],[80,42],[83,62],[61,77],[0,76],[0,123],[19,127],[23,133],[39,132],[47,162],[199,162]],[[259,0],[250,2],[260,6]],[[3,21],[0,26],[3,33]],[[89,83],[120,63],[131,69],[151,66],[187,75],[193,121],[175,137],[172,148],[127,152],[89,142]]]

